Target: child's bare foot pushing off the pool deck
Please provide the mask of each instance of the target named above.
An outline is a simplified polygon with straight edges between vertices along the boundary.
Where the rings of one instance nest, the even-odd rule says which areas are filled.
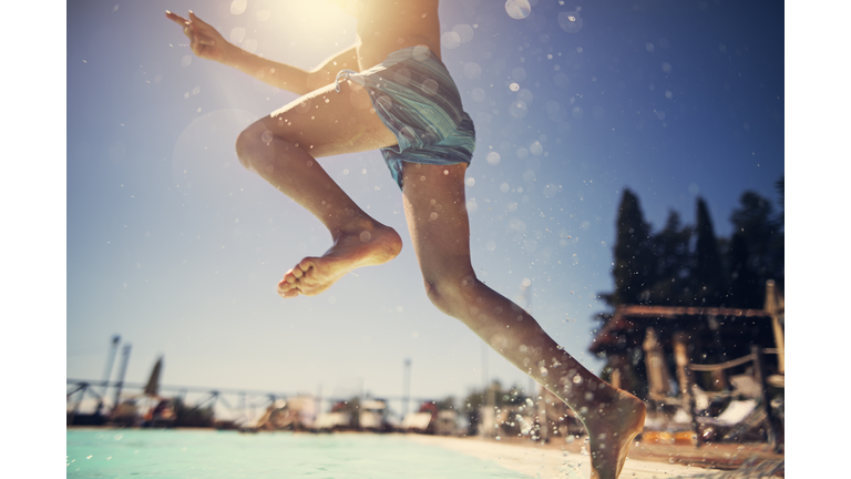
[[[615,401],[601,405],[585,420],[591,447],[591,478],[616,479],[633,439],[644,429],[646,407],[635,396],[619,390]]]

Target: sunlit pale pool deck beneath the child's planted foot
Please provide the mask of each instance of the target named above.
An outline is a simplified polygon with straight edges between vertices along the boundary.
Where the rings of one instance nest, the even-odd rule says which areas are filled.
[[[591,461],[584,442],[534,445],[482,438],[407,435],[412,440],[443,447],[533,478],[588,478]],[[659,446],[639,442],[633,447],[621,472],[623,479],[652,478],[762,478],[783,477],[783,455],[765,445]]]

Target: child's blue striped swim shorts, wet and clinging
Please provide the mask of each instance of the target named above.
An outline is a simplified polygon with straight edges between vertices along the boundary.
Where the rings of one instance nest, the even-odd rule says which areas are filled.
[[[473,120],[463,111],[447,67],[428,48],[396,51],[362,72],[342,70],[337,91],[342,80],[369,91],[376,113],[399,141],[381,153],[400,188],[404,162],[470,164],[475,150]]]

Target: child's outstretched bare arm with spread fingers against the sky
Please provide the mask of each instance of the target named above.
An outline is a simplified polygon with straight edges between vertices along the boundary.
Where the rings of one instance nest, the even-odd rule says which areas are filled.
[[[355,47],[330,58],[314,70],[305,71],[248,53],[227,42],[216,29],[192,11],[188,20],[167,10],[165,16],[183,27],[183,33],[191,40],[189,47],[198,58],[233,67],[273,86],[297,94],[306,94],[334,82],[340,70],[360,70]]]

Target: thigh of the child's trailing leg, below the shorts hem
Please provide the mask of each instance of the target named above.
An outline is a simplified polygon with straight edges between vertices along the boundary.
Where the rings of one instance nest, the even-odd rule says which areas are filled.
[[[460,279],[473,271],[465,171],[463,163],[404,163],[404,214],[420,269],[429,283],[447,277]]]

